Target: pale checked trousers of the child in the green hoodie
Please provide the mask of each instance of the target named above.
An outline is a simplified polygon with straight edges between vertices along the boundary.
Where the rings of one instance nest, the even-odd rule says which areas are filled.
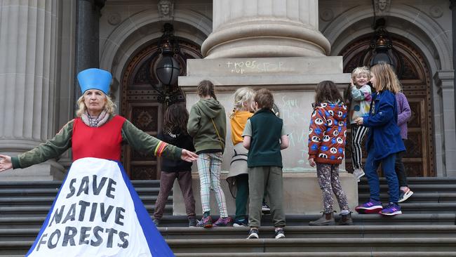
[[[201,187],[201,205],[203,213],[210,211],[210,190],[214,190],[220,217],[228,216],[224,192],[220,187],[220,172],[222,170],[222,152],[206,152],[198,154],[198,173]]]

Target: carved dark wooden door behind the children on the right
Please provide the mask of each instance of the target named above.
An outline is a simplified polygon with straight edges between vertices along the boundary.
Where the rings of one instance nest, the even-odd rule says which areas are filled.
[[[401,84],[407,96],[412,117],[408,121],[407,149],[403,163],[408,176],[435,176],[434,166],[434,126],[432,124],[432,105],[429,70],[422,55],[411,44],[392,37],[397,56],[401,58]],[[370,37],[356,40],[341,53],[344,57],[344,72],[351,72],[360,65],[368,66],[370,55],[366,55]],[[352,171],[351,133],[348,133],[346,167]],[[363,142],[363,164],[366,150]]]

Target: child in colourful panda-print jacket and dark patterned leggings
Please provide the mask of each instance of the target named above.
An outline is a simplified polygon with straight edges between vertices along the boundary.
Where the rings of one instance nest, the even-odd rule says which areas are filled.
[[[333,81],[316,85],[315,107],[309,125],[309,164],[316,165],[318,185],[323,194],[323,216],[309,225],[335,225],[333,193],[340,206],[338,225],[352,225],[347,196],[339,180],[347,134],[347,105]]]

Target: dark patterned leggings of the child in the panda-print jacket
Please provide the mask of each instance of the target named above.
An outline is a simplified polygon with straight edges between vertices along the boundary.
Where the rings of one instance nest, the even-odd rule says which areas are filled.
[[[323,195],[323,212],[333,212],[333,192],[339,202],[340,210],[349,210],[347,196],[345,195],[339,179],[339,164],[316,163],[316,175]]]

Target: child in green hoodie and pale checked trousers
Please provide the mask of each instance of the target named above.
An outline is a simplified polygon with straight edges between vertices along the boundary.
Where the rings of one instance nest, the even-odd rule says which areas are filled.
[[[227,117],[223,106],[215,97],[212,82],[201,81],[197,91],[200,100],[192,106],[187,124],[187,130],[189,135],[193,137],[196,154],[198,154],[197,164],[203,218],[197,225],[204,228],[212,228],[213,225],[231,226],[233,219],[228,216],[224,192],[220,187]],[[210,189],[215,192],[220,213],[220,218],[214,224],[210,217]]]

